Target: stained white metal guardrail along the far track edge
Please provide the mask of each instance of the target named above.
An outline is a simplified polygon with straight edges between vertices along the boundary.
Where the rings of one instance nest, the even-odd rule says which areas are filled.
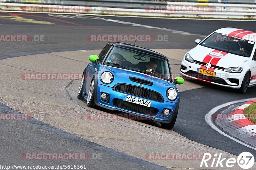
[[[78,8],[78,11],[65,11],[63,10],[64,7],[72,7],[72,9],[75,7]],[[142,0],[0,0],[0,9],[32,12],[55,12],[57,10],[56,12],[66,13],[159,17],[256,18],[255,4],[158,2]],[[61,10],[59,11],[58,9]]]

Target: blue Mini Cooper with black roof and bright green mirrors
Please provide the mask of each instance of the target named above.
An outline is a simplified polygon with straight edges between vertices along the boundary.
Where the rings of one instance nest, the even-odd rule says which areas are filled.
[[[84,69],[77,98],[113,111],[146,117],[172,129],[179,110],[180,96],[172,80],[166,56],[155,51],[109,42],[99,56],[91,55]]]

